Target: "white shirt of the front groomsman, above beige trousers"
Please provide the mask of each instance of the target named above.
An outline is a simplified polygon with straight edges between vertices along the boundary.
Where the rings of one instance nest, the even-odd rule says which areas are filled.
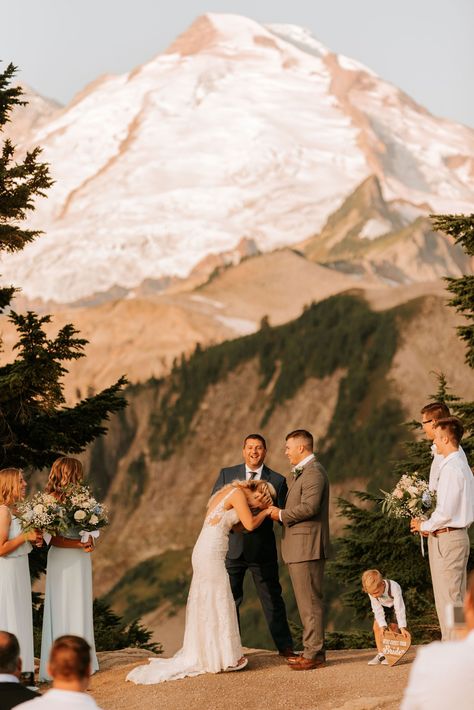
[[[464,453],[464,452],[463,452]],[[474,521],[474,476],[466,456],[453,451],[439,469],[436,509],[421,523],[423,532],[441,528],[467,528]]]

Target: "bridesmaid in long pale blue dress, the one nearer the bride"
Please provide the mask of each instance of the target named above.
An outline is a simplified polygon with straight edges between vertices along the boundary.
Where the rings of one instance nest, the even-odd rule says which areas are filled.
[[[46,493],[61,501],[71,483],[82,483],[84,473],[77,459],[56,459],[46,485]],[[80,527],[71,527],[65,536],[51,539],[46,567],[43,634],[41,638],[40,680],[51,680],[47,673],[49,652],[58,636],[73,634],[84,638],[91,647],[92,672],[99,670],[94,642],[92,617],[92,538],[82,543]]]

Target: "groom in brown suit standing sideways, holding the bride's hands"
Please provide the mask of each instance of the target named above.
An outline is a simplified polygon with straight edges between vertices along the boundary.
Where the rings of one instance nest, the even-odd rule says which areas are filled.
[[[285,506],[272,509],[272,519],[283,523],[281,553],[288,565],[303,624],[303,655],[288,659],[295,671],[325,665],[323,575],[330,552],[329,481],[316,461],[313,437],[297,429],[286,437],[285,453],[292,466]]]

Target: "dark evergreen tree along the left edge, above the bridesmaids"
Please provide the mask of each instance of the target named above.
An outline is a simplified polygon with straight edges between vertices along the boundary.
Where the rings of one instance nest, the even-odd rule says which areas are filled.
[[[11,86],[15,67],[0,74],[0,131],[15,106],[22,106],[22,90]],[[44,196],[52,181],[40,149],[15,160],[15,147],[5,140],[0,158],[0,252],[16,252],[41,234],[24,227],[34,209],[34,199]],[[0,288],[0,311],[10,306],[13,286]],[[77,454],[95,437],[104,434],[104,421],[125,406],[125,380],[75,406],[65,406],[62,377],[65,362],[83,357],[86,340],[77,337],[71,324],[48,338],[44,326],[50,316],[13,311],[9,318],[19,339],[13,362],[0,367],[0,468],[43,468],[60,454]]]

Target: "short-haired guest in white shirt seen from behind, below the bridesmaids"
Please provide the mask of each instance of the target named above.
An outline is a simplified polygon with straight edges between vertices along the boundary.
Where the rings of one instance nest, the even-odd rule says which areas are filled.
[[[79,636],[60,636],[49,655],[53,687],[40,698],[23,703],[22,710],[100,710],[86,693],[91,676],[91,647]]]

